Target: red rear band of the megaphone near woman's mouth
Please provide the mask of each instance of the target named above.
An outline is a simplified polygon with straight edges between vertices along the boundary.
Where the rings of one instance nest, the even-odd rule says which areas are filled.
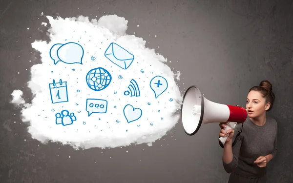
[[[247,111],[243,107],[227,105],[230,109],[228,122],[243,123],[247,118]]]

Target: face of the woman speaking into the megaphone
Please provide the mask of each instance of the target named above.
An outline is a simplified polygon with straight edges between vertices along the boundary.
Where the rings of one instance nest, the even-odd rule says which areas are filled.
[[[270,108],[270,105],[258,91],[250,91],[247,95],[246,109],[250,118],[261,116]]]

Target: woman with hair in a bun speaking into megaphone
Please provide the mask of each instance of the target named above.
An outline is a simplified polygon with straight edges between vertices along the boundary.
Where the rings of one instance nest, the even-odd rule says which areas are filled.
[[[277,122],[266,116],[267,111],[272,109],[274,98],[269,81],[261,81],[259,86],[249,90],[246,101],[248,118],[233,147],[234,130],[226,131],[226,123],[220,123],[219,136],[228,136],[222,145],[223,166],[230,173],[228,183],[267,182],[266,166],[277,153]],[[235,131],[238,126],[241,127],[241,124]]]

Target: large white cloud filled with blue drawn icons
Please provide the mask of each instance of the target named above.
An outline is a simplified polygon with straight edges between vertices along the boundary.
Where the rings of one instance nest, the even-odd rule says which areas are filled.
[[[65,19],[60,17],[53,19],[47,16],[47,19],[51,25],[48,30],[51,41],[32,43],[32,47],[41,53],[42,63],[33,65],[31,68],[28,87],[32,90],[34,98],[32,103],[25,104],[21,111],[22,121],[30,122],[28,132],[32,138],[44,143],[47,141],[62,142],[75,148],[118,147],[130,143],[151,145],[151,142],[166,135],[167,131],[176,124],[179,120],[179,114],[176,111],[180,109],[182,95],[174,80],[175,78],[179,80],[179,75],[178,73],[175,75],[166,65],[167,59],[155,53],[154,49],[145,47],[146,41],[126,34],[127,20],[116,15],[103,16],[100,20],[91,21],[88,20],[88,17],[83,16]],[[82,49],[75,43],[63,45],[68,42],[78,43]],[[127,69],[122,69],[105,57],[105,50],[111,42],[123,47],[134,56],[134,61]],[[52,57],[57,60],[58,56],[63,58],[61,59],[63,61],[56,64],[50,57],[50,49],[54,44],[58,45],[52,49]],[[115,49],[119,49],[119,46],[115,46],[114,44]],[[116,56],[123,59],[131,57],[130,54],[121,50],[115,52]],[[73,61],[64,59],[67,56],[74,58],[74,61],[82,56],[80,58],[82,64],[68,64]],[[111,55],[108,56],[110,58]],[[88,86],[86,76],[90,70],[98,67],[104,69],[101,70],[102,73],[108,72],[106,75],[111,76],[111,82],[105,89],[94,91]],[[100,70],[98,69],[98,71]],[[96,79],[99,84],[100,75],[96,76],[98,76]],[[155,87],[154,83],[150,84],[155,76],[165,78],[168,84],[167,90],[158,98],[155,98],[155,93],[150,88],[150,85]],[[127,88],[132,79],[139,87],[140,96],[138,97],[131,97],[131,92]],[[52,94],[53,102],[67,101],[67,99],[68,102],[52,103],[49,84],[51,83],[51,88],[54,87],[53,80],[55,86],[58,86],[60,80],[62,80],[63,86],[65,82],[67,86],[67,95],[65,87],[52,90],[53,93],[55,90],[55,93]],[[135,82],[133,83],[135,85]],[[163,85],[159,85],[159,87],[166,84],[162,78],[160,83]],[[126,96],[124,93],[127,90],[126,94],[129,93],[129,95]],[[14,91],[14,94],[16,93],[20,93],[20,91]],[[96,100],[89,100],[86,105],[87,99]],[[19,100],[13,100],[13,102],[17,101]],[[93,105],[99,104],[99,107],[104,104],[104,107],[90,109],[91,102]],[[125,116],[124,114],[127,104],[141,109],[142,114],[138,120],[127,123],[126,116],[131,115],[126,113]],[[92,113],[88,116],[86,108],[87,111],[94,112],[105,112],[106,108],[106,112]],[[65,114],[63,124],[56,124],[55,115],[61,114],[63,110],[67,110],[69,115],[74,113],[75,117],[72,119],[76,118],[76,121],[64,126],[63,124],[71,122]],[[173,116],[173,113],[176,114]],[[133,115],[140,116],[140,114],[132,114],[128,120],[133,120]],[[59,117],[59,115],[57,116]],[[60,119],[57,123],[61,123]]]

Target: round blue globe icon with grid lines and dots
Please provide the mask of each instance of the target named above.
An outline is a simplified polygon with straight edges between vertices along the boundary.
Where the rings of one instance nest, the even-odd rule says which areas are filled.
[[[111,82],[111,74],[104,68],[91,69],[86,74],[86,83],[94,91],[104,90]]]

